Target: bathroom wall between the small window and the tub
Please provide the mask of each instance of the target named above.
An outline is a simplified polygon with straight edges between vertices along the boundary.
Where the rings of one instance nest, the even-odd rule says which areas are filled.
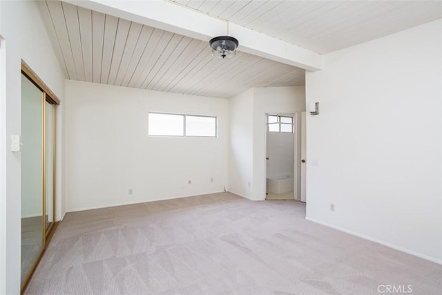
[[[295,134],[267,132],[267,178],[269,176],[294,176]]]

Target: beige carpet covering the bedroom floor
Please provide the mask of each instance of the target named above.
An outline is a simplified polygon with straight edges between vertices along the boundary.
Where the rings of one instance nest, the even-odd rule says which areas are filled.
[[[441,294],[441,265],[304,218],[231,193],[68,213],[26,294]]]

